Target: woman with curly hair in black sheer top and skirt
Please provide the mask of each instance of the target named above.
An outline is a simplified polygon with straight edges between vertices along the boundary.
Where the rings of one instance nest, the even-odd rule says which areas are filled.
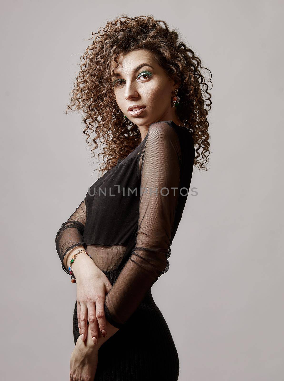
[[[70,380],[174,381],[179,358],[151,287],[169,269],[193,165],[206,169],[211,95],[166,22],[123,15],[93,36],[68,108],[86,114],[92,151],[105,144],[105,173],[56,235],[77,284]]]

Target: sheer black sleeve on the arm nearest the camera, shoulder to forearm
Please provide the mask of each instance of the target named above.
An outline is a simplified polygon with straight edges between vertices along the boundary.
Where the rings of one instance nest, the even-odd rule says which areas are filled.
[[[164,122],[150,125],[142,153],[136,245],[105,298],[116,328],[129,319],[167,267],[180,184],[181,148]]]

